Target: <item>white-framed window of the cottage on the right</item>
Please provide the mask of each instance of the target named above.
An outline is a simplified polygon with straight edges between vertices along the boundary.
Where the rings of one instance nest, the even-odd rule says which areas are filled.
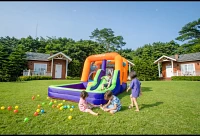
[[[194,64],[181,64],[181,73],[183,76],[195,75]]]

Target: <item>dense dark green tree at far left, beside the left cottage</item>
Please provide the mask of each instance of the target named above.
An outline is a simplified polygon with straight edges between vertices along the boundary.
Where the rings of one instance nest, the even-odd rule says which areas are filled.
[[[15,48],[0,44],[0,81],[16,81],[26,68],[26,54],[23,45]]]

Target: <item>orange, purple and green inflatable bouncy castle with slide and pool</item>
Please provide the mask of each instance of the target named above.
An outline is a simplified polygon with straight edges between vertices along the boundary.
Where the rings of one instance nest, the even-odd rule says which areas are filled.
[[[109,88],[101,90],[106,83],[101,77],[108,73],[112,75]],[[91,55],[86,58],[81,81],[74,84],[51,85],[48,87],[48,96],[63,100],[78,102],[81,91],[87,91],[87,101],[94,105],[105,104],[104,94],[111,90],[114,95],[122,93],[127,88],[128,61],[116,52]]]

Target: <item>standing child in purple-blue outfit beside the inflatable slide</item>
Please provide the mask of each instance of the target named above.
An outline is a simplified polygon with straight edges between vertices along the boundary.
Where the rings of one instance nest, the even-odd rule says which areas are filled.
[[[130,89],[132,89],[132,93],[130,95],[131,104],[129,106],[129,109],[133,108],[133,106],[135,105],[135,107],[136,107],[135,111],[139,111],[138,103],[137,103],[137,98],[142,94],[141,88],[140,88],[141,87],[141,83],[136,78],[137,74],[136,74],[135,71],[130,72],[129,76],[130,76],[130,78],[132,80],[131,83],[130,83],[129,88],[126,90],[126,92],[128,92]]]

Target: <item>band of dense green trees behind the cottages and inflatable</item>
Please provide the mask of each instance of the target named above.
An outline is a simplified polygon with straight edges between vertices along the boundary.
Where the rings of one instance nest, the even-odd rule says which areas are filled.
[[[189,22],[177,33],[176,40],[184,42],[181,45],[174,40],[166,43],[155,41],[136,50],[125,48],[123,36],[116,36],[111,28],[97,28],[91,32],[91,40],[79,41],[66,37],[0,37],[0,81],[16,81],[22,75],[22,71],[27,69],[25,52],[63,52],[73,59],[69,63],[68,75],[80,77],[89,55],[113,51],[135,64],[133,69],[141,81],[157,80],[158,68],[153,62],[162,55],[200,52],[200,18]]]

